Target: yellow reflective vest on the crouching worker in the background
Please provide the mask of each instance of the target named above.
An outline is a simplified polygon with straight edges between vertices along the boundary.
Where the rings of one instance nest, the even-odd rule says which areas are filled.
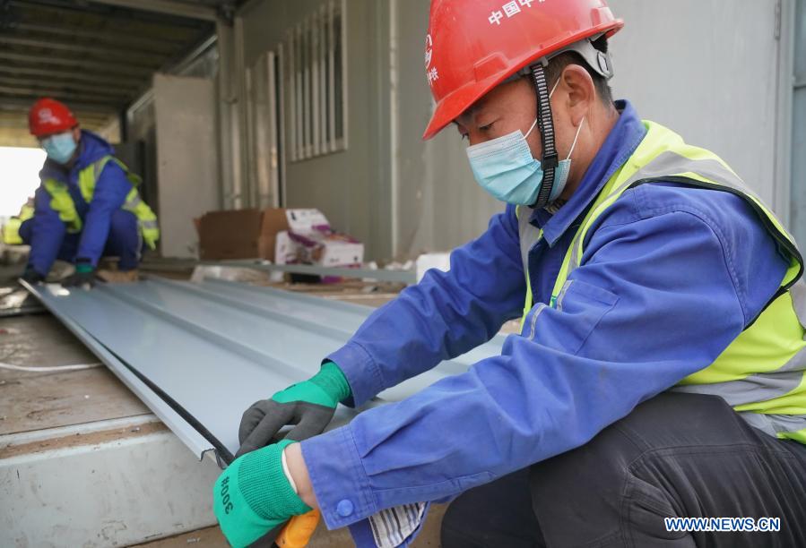
[[[126,164],[119,159],[112,156],[105,156],[79,171],[78,187],[84,201],[87,201],[87,203],[92,201],[92,196],[95,194],[95,185],[98,183],[98,177],[110,160],[114,161],[123,169],[126,173],[126,178],[129,180],[129,183],[132,184],[132,190],[126,195],[126,202],[123,204],[123,209],[134,213],[134,217],[137,218],[140,233],[143,236],[143,241],[145,241],[151,249],[156,249],[157,240],[160,239],[160,227],[157,224],[157,216],[154,215],[152,209],[140,198],[140,193],[137,192],[137,187],[143,180],[134,173],[131,173],[128,167],[126,167]],[[59,218],[67,225],[67,231],[70,233],[81,232],[82,218],[75,210],[75,203],[73,197],[67,190],[67,185],[56,181],[56,179],[48,179],[45,181],[44,185],[45,190],[50,194],[50,207],[58,212]]]

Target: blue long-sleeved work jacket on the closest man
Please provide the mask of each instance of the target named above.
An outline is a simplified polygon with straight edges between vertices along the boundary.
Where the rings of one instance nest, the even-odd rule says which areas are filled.
[[[560,263],[597,193],[644,138],[626,101],[571,199],[535,210],[544,238],[529,253],[534,304],[548,304]],[[562,310],[547,308],[533,339],[411,398],[368,410],[302,442],[328,527],[460,492],[584,445],[638,403],[706,368],[774,295],[789,264],[757,215],[731,193],[643,184],[587,236]],[[373,313],[329,356],[360,405],[462,355],[523,311],[524,269],[511,206]],[[602,295],[608,295],[602,298]],[[411,540],[412,536],[409,537]]]

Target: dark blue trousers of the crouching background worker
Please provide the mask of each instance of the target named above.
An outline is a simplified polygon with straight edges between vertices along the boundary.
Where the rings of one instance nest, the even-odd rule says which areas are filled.
[[[25,244],[30,244],[32,221],[33,219],[30,218],[20,227],[20,237]],[[64,224],[61,234],[51,235],[62,241],[56,259],[75,262],[81,236],[80,233],[67,234],[67,227]],[[134,270],[140,262],[142,251],[143,238],[140,236],[140,228],[137,226],[137,218],[134,217],[134,213],[126,210],[117,210],[112,213],[104,256],[118,257],[120,259],[117,264],[118,270]]]

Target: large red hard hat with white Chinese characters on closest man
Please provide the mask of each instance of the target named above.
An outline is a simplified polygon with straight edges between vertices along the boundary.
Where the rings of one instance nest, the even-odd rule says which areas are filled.
[[[423,139],[522,68],[623,26],[605,0],[431,0],[425,64],[437,107]]]

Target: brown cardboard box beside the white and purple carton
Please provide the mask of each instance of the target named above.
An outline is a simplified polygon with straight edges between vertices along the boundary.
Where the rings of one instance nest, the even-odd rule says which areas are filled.
[[[198,228],[203,261],[273,261],[277,234],[289,225],[283,209],[228,210],[205,213]]]

